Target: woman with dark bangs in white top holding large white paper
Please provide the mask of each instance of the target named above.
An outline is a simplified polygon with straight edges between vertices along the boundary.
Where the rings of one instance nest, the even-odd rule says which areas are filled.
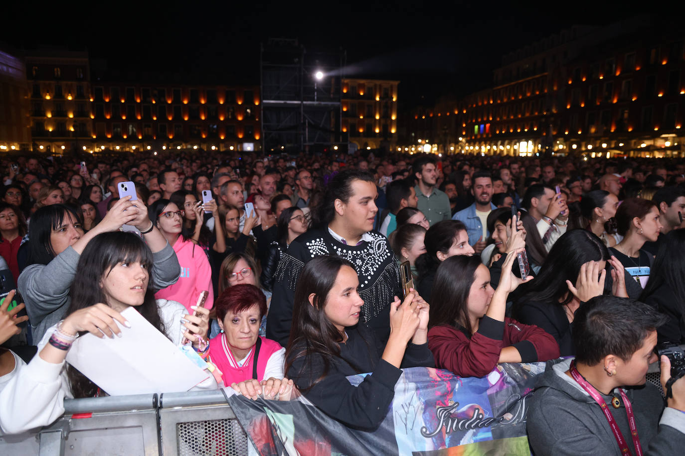
[[[49,425],[64,413],[65,397],[101,395],[97,385],[65,362],[66,354],[73,341],[84,332],[100,338],[121,336],[116,322],[129,324],[121,316],[129,307],[136,308],[176,345],[185,337],[196,351],[208,351],[203,340],[207,334],[209,311],[193,309],[199,313],[196,317],[194,312],[186,314],[184,306],[177,302],[155,301],[154,290],[149,286],[152,263],[152,252],[136,234],[104,232],[86,245],[76,267],[66,317],[47,329],[38,343],[38,354],[1,393],[7,396],[3,396],[0,403],[9,404],[12,412],[11,420],[3,421],[3,429],[18,432]],[[195,388],[216,387],[216,381],[210,375]],[[30,401],[26,401],[28,397]]]

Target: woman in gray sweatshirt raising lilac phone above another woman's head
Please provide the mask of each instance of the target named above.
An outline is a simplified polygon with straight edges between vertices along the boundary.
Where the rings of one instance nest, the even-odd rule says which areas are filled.
[[[128,196],[117,200],[102,222],[84,232],[83,221],[71,206],[52,204],[34,214],[29,226],[28,266],[18,278],[34,340],[60,321],[71,304],[69,287],[76,274],[79,256],[92,238],[116,231],[123,224],[136,226],[153,252],[154,289],[176,282],[179,265],[173,248],[153,226],[147,208]]]

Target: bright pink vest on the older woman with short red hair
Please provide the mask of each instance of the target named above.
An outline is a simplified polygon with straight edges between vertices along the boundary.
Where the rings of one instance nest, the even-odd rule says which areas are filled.
[[[266,362],[269,361],[273,353],[281,349],[281,345],[273,340],[260,337],[262,340],[262,347],[260,347],[257,356],[257,380],[264,379],[264,371],[266,370]],[[254,348],[254,347],[253,347]],[[232,353],[227,355],[228,344],[225,343],[225,335],[223,333],[210,340],[210,358],[216,367],[219,368],[225,386],[230,386],[232,383],[240,383],[240,381],[249,380],[252,378],[254,353],[249,354],[247,362],[240,367],[234,367],[229,361],[229,356],[233,358]]]

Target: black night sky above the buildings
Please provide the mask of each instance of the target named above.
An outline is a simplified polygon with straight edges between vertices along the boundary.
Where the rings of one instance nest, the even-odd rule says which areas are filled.
[[[308,51],[342,46],[355,76],[399,79],[409,105],[487,87],[501,55],[564,27],[638,13],[598,1],[6,3],[0,43],[19,49],[87,48],[112,72],[259,83],[260,42],[298,38]]]

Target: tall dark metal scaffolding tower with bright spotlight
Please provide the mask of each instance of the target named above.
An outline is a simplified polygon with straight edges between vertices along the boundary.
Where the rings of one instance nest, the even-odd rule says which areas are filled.
[[[297,40],[262,44],[262,150],[323,152],[347,142],[340,128],[345,51],[308,53]]]

